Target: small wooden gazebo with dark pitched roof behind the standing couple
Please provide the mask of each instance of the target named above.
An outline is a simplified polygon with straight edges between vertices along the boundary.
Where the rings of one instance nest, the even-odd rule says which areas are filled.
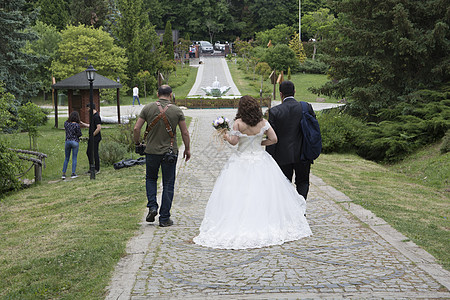
[[[120,101],[119,89],[122,85],[119,82],[106,78],[100,74],[95,75],[93,82],[94,88],[94,104],[100,113],[100,89],[117,89],[117,118],[120,124]],[[80,72],[72,77],[61,80],[52,85],[55,90],[55,127],[58,128],[58,90],[67,90],[69,115],[76,110],[80,114],[81,121],[89,123],[89,92],[90,86],[87,80],[86,72]]]

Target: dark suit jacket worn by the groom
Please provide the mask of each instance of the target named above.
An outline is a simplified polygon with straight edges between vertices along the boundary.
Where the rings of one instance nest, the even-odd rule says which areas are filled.
[[[311,104],[309,111],[315,116]],[[302,106],[294,97],[286,97],[269,110],[269,123],[277,134],[278,143],[266,147],[278,165],[300,162],[303,133],[300,125]]]

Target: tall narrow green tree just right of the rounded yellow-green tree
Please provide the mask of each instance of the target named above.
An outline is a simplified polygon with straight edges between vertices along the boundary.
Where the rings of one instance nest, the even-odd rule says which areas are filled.
[[[119,44],[126,49],[127,75],[132,85],[142,70],[156,74],[162,61],[160,39],[143,10],[142,0],[118,0],[118,6],[121,18],[115,32]]]

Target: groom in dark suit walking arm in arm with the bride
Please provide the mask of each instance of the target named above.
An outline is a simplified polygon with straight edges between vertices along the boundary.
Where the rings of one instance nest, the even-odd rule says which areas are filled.
[[[269,110],[269,123],[277,134],[278,143],[267,146],[266,151],[272,155],[290,181],[295,173],[297,192],[306,200],[312,161],[300,160],[303,140],[300,125],[302,106],[294,99],[294,94],[295,87],[291,81],[283,81],[280,84],[282,103]],[[308,107],[315,117],[311,104],[308,103]]]

